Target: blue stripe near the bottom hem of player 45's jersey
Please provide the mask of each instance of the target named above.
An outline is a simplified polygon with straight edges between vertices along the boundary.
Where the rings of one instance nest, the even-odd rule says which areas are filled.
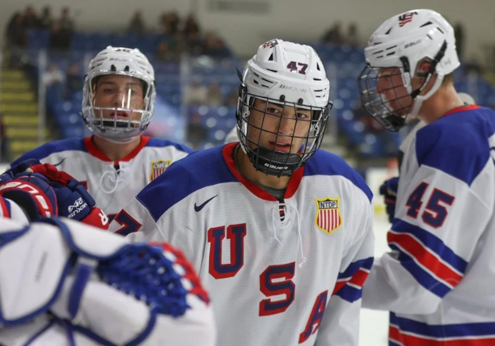
[[[390,323],[402,332],[429,336],[432,338],[458,338],[467,336],[494,335],[495,322],[429,325],[408,318],[390,315]]]

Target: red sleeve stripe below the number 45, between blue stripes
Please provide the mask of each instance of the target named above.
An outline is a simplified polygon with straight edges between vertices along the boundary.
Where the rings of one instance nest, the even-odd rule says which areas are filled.
[[[462,275],[458,274],[440,259],[431,254],[423,244],[419,243],[414,237],[409,234],[395,234],[389,232],[387,235],[389,243],[396,243],[411,257],[416,259],[424,267],[430,270],[435,276],[444,281],[447,286],[455,287],[462,279]]]

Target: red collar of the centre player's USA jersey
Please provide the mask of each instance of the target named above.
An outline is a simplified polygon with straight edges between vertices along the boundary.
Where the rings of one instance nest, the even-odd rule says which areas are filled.
[[[277,201],[277,199],[274,196],[270,195],[268,192],[263,190],[258,185],[244,178],[241,175],[241,173],[237,170],[236,162],[234,161],[234,157],[233,157],[234,149],[236,148],[237,144],[238,142],[229,143],[224,145],[222,148],[223,159],[225,160],[225,163],[227,164],[229,171],[232,174],[234,174],[236,179],[239,180],[239,182],[243,184],[255,196],[264,199],[266,201]],[[304,174],[304,166],[298,168],[294,173],[292,173],[292,176],[289,180],[289,184],[287,185],[287,189],[285,190],[284,199],[291,198],[292,196],[294,196],[294,194],[297,191],[297,188],[299,187],[299,183],[301,182],[303,174]]]

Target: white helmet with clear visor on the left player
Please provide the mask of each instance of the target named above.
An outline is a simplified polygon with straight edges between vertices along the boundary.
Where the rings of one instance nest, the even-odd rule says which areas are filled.
[[[104,75],[130,76],[142,81],[144,109],[131,109],[128,104],[112,108],[95,106],[93,101],[96,81]],[[137,48],[108,46],[90,61],[88,74],[84,79],[82,116],[88,128],[95,134],[115,142],[127,142],[139,136],[148,127],[153,115],[155,97],[154,70],[147,57]],[[104,110],[113,110],[113,119],[103,118]],[[117,118],[119,111],[126,112],[129,115],[128,119]],[[133,113],[139,113],[141,117],[132,120]]]

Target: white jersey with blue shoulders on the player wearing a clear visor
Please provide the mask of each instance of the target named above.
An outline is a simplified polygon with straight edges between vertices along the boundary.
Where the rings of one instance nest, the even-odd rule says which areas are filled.
[[[92,137],[70,138],[31,150],[11,166],[33,158],[55,165],[84,182],[97,206],[111,220],[151,180],[191,151],[168,140],[141,136],[136,149],[122,160],[112,161],[95,146]]]

